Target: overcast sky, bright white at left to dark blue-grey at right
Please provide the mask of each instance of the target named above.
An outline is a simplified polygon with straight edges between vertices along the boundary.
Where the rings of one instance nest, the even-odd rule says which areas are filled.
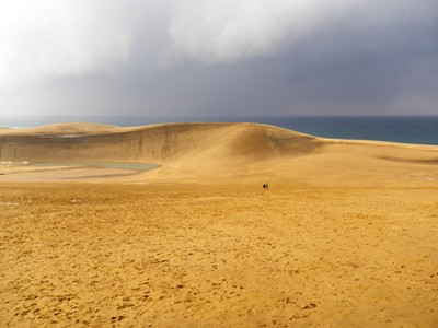
[[[0,115],[438,115],[437,0],[0,0]]]

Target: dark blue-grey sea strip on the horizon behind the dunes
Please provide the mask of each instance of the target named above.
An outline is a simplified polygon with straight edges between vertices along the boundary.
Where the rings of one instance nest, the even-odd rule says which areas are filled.
[[[55,122],[96,122],[120,127],[169,122],[256,122],[323,138],[438,145],[437,116],[0,116],[0,127],[26,128]]]

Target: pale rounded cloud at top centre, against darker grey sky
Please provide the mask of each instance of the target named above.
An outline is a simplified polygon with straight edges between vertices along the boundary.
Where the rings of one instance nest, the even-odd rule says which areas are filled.
[[[169,33],[176,49],[204,62],[270,55],[299,40],[355,0],[186,0],[173,12]]]

